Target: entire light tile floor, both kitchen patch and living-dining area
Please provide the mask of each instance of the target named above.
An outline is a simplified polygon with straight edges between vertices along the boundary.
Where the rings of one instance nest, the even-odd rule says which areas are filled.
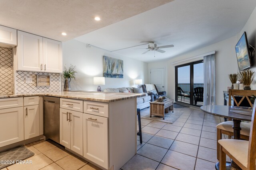
[[[141,110],[142,140],[137,136],[137,154],[122,170],[214,170],[216,125],[224,119],[189,107],[174,108],[182,115],[173,124],[143,119],[150,109]],[[35,153],[32,164],[14,164],[3,170],[100,170],[52,141],[25,145]],[[227,161],[230,161],[227,158]]]

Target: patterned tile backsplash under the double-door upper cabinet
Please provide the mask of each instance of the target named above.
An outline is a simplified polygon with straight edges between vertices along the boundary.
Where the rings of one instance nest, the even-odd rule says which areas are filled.
[[[59,73],[45,73],[45,72],[16,72],[16,93],[30,93],[30,92],[58,92],[60,91],[60,74]],[[39,86],[36,87],[36,75],[50,75],[50,87]],[[32,83],[26,83],[26,78],[32,78]]]

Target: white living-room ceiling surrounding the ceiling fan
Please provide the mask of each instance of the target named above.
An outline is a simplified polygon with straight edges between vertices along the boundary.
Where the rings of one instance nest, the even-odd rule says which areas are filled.
[[[168,59],[236,35],[256,6],[255,0],[175,0],[75,38],[144,62]],[[166,53],[150,51],[141,41],[154,41]],[[140,45],[138,47],[133,47]],[[127,47],[132,47],[124,49]],[[119,50],[122,49],[122,50]],[[117,51],[116,51],[117,50]]]

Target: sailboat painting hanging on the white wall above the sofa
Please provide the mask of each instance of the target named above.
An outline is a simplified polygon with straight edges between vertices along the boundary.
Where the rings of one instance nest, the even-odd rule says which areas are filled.
[[[103,76],[124,78],[124,61],[103,56]]]

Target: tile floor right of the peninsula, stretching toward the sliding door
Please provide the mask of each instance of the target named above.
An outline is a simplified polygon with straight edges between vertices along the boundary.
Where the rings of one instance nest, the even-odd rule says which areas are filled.
[[[137,154],[122,170],[215,170],[216,125],[224,119],[199,108],[174,110],[183,113],[173,124],[145,120],[150,109],[141,110],[143,143],[137,136]]]

